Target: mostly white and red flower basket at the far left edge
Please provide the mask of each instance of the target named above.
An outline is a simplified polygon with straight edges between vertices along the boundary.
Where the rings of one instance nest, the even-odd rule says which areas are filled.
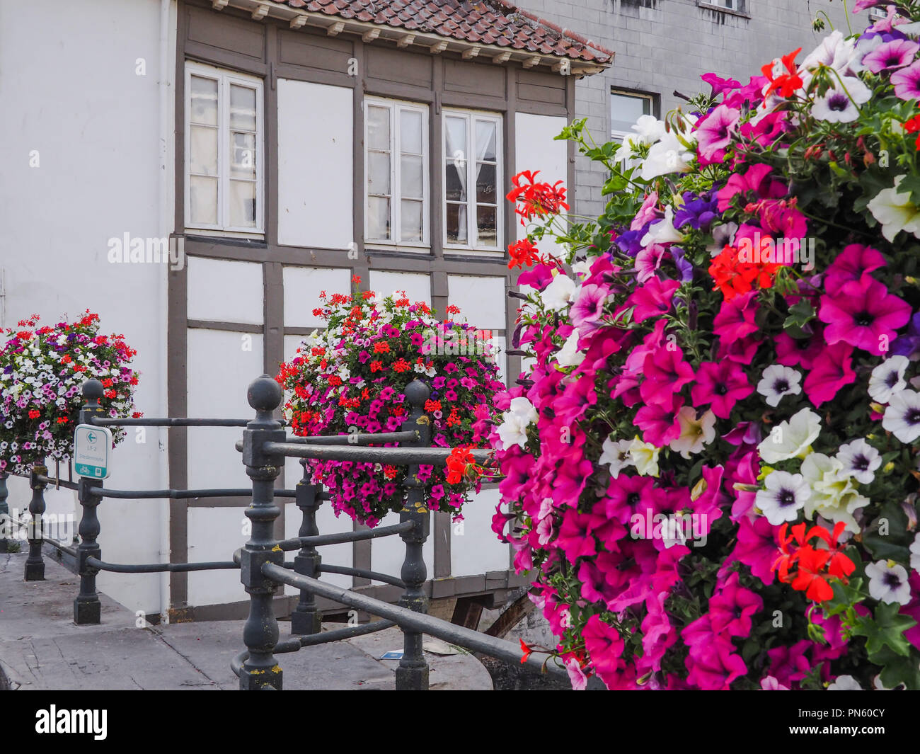
[[[69,462],[83,405],[84,382],[96,377],[100,403],[111,417],[133,412],[137,353],[123,335],[100,335],[99,318],[86,310],[75,322],[39,326],[33,314],[4,331],[0,348],[0,471],[28,473],[33,464]],[[118,443],[123,429],[114,429]]]

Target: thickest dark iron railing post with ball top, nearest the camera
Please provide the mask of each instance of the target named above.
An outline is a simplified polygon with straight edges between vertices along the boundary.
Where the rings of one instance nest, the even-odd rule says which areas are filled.
[[[246,510],[252,534],[240,551],[240,581],[249,595],[249,617],[243,627],[249,654],[240,669],[239,688],[281,690],[282,668],[274,655],[278,620],[271,604],[279,585],[262,574],[262,565],[284,564],[284,552],[274,536],[274,522],[281,514],[274,505],[274,482],[284,456],[263,449],[267,442],[284,442],[282,425],[272,416],[282,402],[282,389],[271,377],[262,375],[249,385],[247,400],[256,410],[256,418],[243,431],[243,463],[252,480],[252,505]]]

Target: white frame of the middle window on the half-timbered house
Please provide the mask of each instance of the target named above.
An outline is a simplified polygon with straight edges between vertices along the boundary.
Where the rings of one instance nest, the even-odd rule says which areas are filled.
[[[369,235],[368,212],[368,155],[370,154],[370,139],[368,138],[369,121],[367,109],[370,106],[386,108],[390,111],[390,238],[371,238]],[[383,97],[365,97],[362,103],[364,117],[364,188],[363,213],[364,213],[364,245],[385,246],[395,249],[430,249],[429,215],[431,206],[431,182],[429,180],[429,166],[431,165],[431,144],[428,136],[428,105],[418,102],[409,102],[404,99],[386,99]],[[421,240],[404,241],[402,238],[402,151],[399,148],[399,113],[403,110],[418,112],[421,115]]]

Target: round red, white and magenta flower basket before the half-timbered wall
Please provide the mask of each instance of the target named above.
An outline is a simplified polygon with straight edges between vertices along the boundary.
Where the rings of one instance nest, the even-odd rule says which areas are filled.
[[[424,302],[412,304],[404,292],[379,301],[373,291],[324,292],[321,298],[314,314],[327,321],[326,329],[308,336],[277,377],[288,393],[285,412],[293,433],[397,432],[408,413],[406,386],[423,380],[431,388],[425,411],[432,445],[454,448],[448,467],[421,465],[425,501],[431,510],[462,518],[462,506],[482,484],[481,470],[464,449],[488,447],[489,424],[498,416],[494,397],[504,389],[490,333],[454,320],[441,322]],[[459,309],[448,307],[448,314]],[[310,464],[336,515],[344,512],[374,527],[402,508],[405,466]]]

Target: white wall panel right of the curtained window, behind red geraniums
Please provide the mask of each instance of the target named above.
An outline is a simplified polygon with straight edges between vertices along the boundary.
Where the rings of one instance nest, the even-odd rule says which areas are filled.
[[[534,115],[530,112],[518,112],[514,116],[514,172],[522,170],[539,170],[537,181],[550,184],[561,180],[569,189],[569,146],[568,142],[553,141],[561,133],[568,121],[561,115]],[[561,226],[562,221],[557,221]],[[526,236],[526,230],[517,224],[518,239]],[[561,255],[563,249],[546,237],[537,244],[541,251]]]

